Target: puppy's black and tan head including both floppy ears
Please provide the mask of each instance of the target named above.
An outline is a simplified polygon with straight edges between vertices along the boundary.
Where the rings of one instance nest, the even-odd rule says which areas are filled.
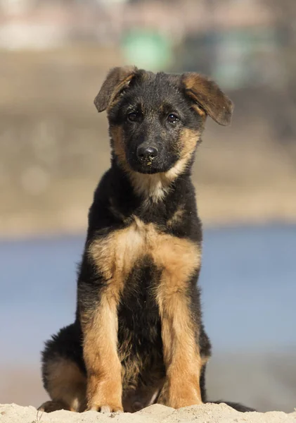
[[[205,119],[229,125],[233,104],[198,73],[113,68],[95,105],[107,109],[113,154],[127,171],[179,174],[193,161]]]

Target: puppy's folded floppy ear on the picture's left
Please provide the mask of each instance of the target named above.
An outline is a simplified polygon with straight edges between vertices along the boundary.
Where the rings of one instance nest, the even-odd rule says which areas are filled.
[[[98,95],[94,99],[94,104],[98,112],[104,111],[112,104],[113,100],[124,88],[129,86],[129,82],[138,69],[135,66],[123,66],[122,68],[112,68]]]

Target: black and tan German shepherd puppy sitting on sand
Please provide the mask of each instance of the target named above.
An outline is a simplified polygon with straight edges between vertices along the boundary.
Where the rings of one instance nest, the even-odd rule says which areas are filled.
[[[198,73],[135,67],[113,68],[94,103],[108,113],[111,167],[89,210],[75,323],[42,353],[51,401],[41,409],[205,403],[211,347],[191,168],[207,116],[229,125],[233,104]]]

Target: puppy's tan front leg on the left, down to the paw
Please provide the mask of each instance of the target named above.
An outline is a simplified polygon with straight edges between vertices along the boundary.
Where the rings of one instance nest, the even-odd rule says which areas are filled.
[[[88,279],[89,280],[89,279]],[[87,410],[120,412],[122,366],[117,355],[118,295],[112,283],[79,283],[79,317],[87,372]]]

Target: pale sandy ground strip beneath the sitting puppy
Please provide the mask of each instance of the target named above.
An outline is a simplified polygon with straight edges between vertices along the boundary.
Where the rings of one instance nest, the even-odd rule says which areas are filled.
[[[296,412],[285,414],[284,412],[248,412],[241,413],[233,410],[226,404],[207,404],[202,406],[192,406],[174,410],[164,405],[151,405],[140,412],[134,414],[124,413],[111,415],[101,415],[100,413],[89,411],[79,415],[74,412],[56,411],[50,414],[37,412],[34,407],[20,407],[15,404],[0,405],[0,422],[2,423],[74,423],[74,422],[120,422],[120,423],[228,423],[228,422],[296,422]]]

